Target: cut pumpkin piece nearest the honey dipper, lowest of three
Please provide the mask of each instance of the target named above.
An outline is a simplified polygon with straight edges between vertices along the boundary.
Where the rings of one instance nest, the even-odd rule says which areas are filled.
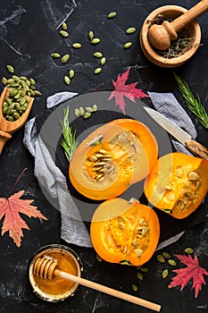
[[[160,224],[154,209],[137,200],[108,199],[96,208],[90,237],[107,262],[141,266],[154,254]]]

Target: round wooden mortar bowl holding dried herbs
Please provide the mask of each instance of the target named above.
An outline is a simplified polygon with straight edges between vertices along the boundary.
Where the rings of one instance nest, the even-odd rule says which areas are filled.
[[[191,47],[188,47],[187,51],[182,55],[166,58],[160,55],[156,51],[156,49],[151,46],[148,40],[148,30],[159,14],[162,14],[174,20],[179,17],[180,14],[185,12],[187,12],[187,9],[181,6],[164,5],[157,8],[146,17],[146,20],[144,21],[144,24],[140,31],[139,40],[144,54],[152,63],[162,67],[177,67],[183,63],[186,63],[187,60],[189,60],[190,57],[196,53],[196,50],[199,47],[201,40],[201,30],[197,21],[191,21],[187,26],[188,37],[193,39],[190,41]]]

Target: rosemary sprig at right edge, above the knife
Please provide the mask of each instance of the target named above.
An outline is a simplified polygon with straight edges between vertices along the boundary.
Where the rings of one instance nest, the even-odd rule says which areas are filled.
[[[198,121],[203,124],[205,128],[208,128],[208,114],[206,113],[204,106],[201,104],[199,95],[197,94],[196,97],[194,97],[187,85],[187,82],[185,80],[181,80],[175,72],[173,72],[173,74],[178,83],[179,92],[187,103],[187,108],[196,115]]]

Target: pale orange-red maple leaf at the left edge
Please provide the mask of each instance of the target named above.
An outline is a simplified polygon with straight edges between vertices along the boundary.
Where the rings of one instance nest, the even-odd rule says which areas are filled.
[[[29,226],[23,221],[20,213],[29,217],[40,217],[46,219],[37,207],[30,206],[34,201],[31,199],[20,199],[24,190],[14,193],[11,197],[0,198],[0,219],[4,216],[2,226],[2,236],[9,231],[9,235],[15,242],[17,247],[21,247],[21,237],[23,237],[22,229],[28,229]]]

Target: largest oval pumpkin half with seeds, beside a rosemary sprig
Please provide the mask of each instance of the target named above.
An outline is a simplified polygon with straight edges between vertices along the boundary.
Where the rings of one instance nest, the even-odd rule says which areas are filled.
[[[71,159],[70,180],[89,199],[118,197],[130,184],[146,178],[157,155],[157,142],[146,125],[115,120],[80,143]]]

